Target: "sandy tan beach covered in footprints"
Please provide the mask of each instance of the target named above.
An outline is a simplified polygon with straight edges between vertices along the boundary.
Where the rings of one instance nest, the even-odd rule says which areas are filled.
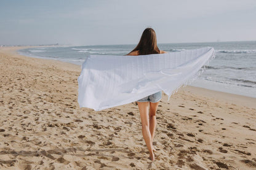
[[[256,98],[163,95],[151,161],[135,102],[79,108],[80,66],[20,48],[0,47],[0,169],[256,169]]]

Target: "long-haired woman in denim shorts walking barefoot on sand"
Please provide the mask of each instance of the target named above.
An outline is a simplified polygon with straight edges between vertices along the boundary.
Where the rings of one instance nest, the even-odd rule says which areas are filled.
[[[156,33],[152,28],[146,28],[140,42],[138,42],[137,47],[132,50],[127,55],[149,55],[149,54],[159,54],[166,53],[162,50],[159,50],[158,45],[156,44]],[[153,95],[146,96],[143,99],[137,101],[138,110],[140,111],[140,118],[142,120],[142,134],[146,142],[146,146],[150,151],[150,158],[154,161],[153,151],[153,139],[154,131],[156,130],[156,109],[158,109],[159,101],[162,97],[162,91],[154,93]],[[148,105],[150,105],[150,112],[148,113]]]

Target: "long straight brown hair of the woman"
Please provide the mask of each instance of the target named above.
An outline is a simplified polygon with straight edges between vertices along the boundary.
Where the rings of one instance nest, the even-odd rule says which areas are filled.
[[[140,37],[140,42],[138,42],[137,47],[131,52],[138,50],[138,55],[148,55],[148,54],[158,54],[160,50],[156,44],[156,33],[152,28],[146,28],[142,37]]]

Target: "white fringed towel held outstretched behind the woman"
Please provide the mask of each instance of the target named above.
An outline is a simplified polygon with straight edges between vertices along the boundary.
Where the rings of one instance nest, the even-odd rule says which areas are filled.
[[[194,80],[214,56],[212,47],[139,56],[91,55],[78,77],[79,106],[98,111],[161,90],[170,98],[180,86]]]

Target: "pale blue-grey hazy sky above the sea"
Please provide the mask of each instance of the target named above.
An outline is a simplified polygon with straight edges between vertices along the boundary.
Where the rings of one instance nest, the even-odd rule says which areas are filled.
[[[0,45],[256,41],[255,0],[0,0]]]

